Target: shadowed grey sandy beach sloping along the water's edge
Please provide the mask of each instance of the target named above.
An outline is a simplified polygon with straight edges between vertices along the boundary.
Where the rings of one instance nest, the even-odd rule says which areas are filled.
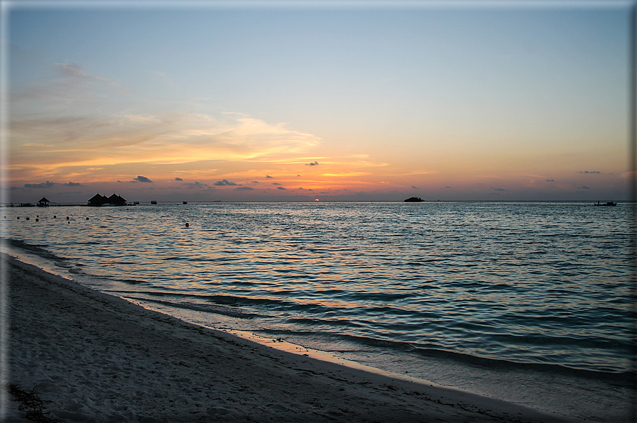
[[[60,422],[577,421],[268,348],[2,257],[9,380]]]

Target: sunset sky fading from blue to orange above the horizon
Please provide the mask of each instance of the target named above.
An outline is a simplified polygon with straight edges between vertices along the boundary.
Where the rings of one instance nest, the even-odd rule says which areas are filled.
[[[628,199],[630,8],[3,2],[3,198]]]

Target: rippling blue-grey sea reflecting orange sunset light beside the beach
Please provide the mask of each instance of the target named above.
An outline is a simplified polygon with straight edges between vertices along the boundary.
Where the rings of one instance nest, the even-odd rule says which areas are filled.
[[[187,322],[633,421],[636,204],[4,207],[22,260]]]

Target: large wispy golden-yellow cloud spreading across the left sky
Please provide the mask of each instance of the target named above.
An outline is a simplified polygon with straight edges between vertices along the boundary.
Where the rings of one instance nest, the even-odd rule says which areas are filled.
[[[47,82],[11,97],[11,170],[21,180],[64,175],[69,167],[90,174],[89,167],[134,163],[276,161],[320,144],[311,133],[245,114],[212,115],[192,105],[142,109],[108,78],[70,63],[55,68]]]

